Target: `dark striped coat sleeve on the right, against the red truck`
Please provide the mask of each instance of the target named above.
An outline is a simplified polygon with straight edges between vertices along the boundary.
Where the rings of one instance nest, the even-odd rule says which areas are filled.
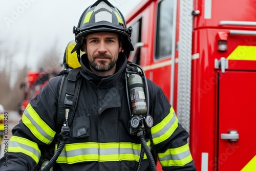
[[[159,86],[148,81],[150,113],[154,118],[152,140],[163,170],[196,170],[187,143],[188,133]]]

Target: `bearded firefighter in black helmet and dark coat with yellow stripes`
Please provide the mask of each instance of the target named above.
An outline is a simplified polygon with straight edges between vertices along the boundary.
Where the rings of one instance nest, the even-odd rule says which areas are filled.
[[[126,94],[125,68],[133,50],[131,28],[120,11],[106,0],[97,1],[81,15],[74,28],[74,50],[81,55],[82,84],[77,108],[70,123],[70,136],[54,165],[55,170],[136,170],[141,143],[130,134],[131,120]],[[52,78],[28,104],[22,120],[12,130],[8,166],[0,170],[33,170],[41,149],[57,134],[57,100],[61,76]],[[149,105],[154,119],[145,134],[163,170],[195,170],[187,143],[188,133],[178,123],[163,91],[147,80]],[[152,142],[151,142],[152,139]],[[144,156],[140,170],[150,170]]]

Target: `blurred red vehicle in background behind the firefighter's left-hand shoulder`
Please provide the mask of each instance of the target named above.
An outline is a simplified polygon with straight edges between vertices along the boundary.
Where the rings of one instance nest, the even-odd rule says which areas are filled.
[[[24,99],[20,103],[19,114],[22,116],[29,101],[34,98],[39,91],[47,84],[50,78],[58,75],[58,72],[29,71],[26,77],[26,81],[20,84],[20,88],[24,89]]]

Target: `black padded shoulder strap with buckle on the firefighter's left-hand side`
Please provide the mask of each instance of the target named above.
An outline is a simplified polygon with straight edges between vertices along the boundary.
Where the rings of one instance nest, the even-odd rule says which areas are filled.
[[[81,88],[81,68],[72,69],[63,73],[58,96],[57,108],[57,131],[60,132],[61,126],[65,121],[65,109],[70,108],[69,123],[71,124],[77,107],[77,99]]]

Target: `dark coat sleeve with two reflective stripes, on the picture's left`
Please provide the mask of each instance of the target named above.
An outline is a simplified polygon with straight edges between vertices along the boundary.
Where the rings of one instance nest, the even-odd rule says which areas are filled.
[[[41,149],[53,142],[60,78],[51,79],[26,107],[12,130],[8,152],[0,159],[0,170],[34,170],[44,155]]]

